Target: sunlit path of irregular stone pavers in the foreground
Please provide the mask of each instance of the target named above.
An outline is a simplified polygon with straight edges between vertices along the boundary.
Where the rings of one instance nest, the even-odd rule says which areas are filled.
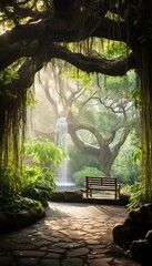
[[[138,266],[112,242],[121,206],[49,203],[36,224],[0,236],[0,266]]]

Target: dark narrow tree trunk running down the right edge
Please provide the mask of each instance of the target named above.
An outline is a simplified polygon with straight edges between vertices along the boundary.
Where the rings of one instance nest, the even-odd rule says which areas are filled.
[[[145,200],[152,200],[152,1],[142,3],[141,45],[138,48],[141,76],[141,123],[142,123],[142,187]]]

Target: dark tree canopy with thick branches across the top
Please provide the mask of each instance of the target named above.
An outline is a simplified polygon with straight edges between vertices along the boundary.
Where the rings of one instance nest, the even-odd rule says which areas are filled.
[[[139,7],[121,1],[8,1],[2,7],[2,22],[11,21],[10,28],[0,37],[0,69],[14,61],[29,58],[26,68],[34,64],[34,72],[52,58],[59,58],[89,72],[122,75],[138,66],[132,52],[116,59],[93,57],[84,49],[89,38],[105,38],[125,42],[133,48],[133,35],[126,34],[126,23],[133,12],[133,25]],[[126,1],[128,2],[128,1]],[[10,4],[10,6],[9,6]],[[123,10],[123,11],[122,11]],[[115,19],[119,18],[119,19]],[[82,42],[80,52],[72,52],[64,43]],[[33,74],[33,73],[31,73]]]

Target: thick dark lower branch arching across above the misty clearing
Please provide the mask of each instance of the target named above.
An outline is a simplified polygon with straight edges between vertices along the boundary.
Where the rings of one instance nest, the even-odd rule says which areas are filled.
[[[28,60],[26,62],[26,65],[28,63],[28,66],[22,66],[26,68],[23,79],[26,79],[26,73],[28,73],[27,79],[29,79],[28,76],[31,76],[32,74],[34,75],[40,69],[43,68],[44,63],[48,63],[53,58],[62,59],[71,63],[75,68],[85,71],[87,73],[95,72],[113,76],[124,75],[129,70],[136,68],[133,53],[130,53],[128,57],[120,57],[118,59],[107,60],[104,58],[85,57],[81,53],[73,53],[67,48],[60,47],[51,42],[42,43],[41,45],[36,43],[36,45],[33,45],[33,49],[31,50],[31,53],[34,55],[31,58],[31,60]],[[3,55],[0,54],[0,69],[3,69],[2,57]],[[16,59],[18,59],[18,53],[14,54],[14,57]],[[6,59],[4,62],[6,64],[8,62],[9,65],[9,54],[8,60]],[[20,79],[22,79],[21,74]]]

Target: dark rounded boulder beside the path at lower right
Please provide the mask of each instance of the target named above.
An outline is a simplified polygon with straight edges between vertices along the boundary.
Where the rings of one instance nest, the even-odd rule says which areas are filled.
[[[152,204],[142,205],[129,212],[123,223],[114,226],[113,241],[123,249],[128,249],[134,260],[149,265],[152,253]]]

